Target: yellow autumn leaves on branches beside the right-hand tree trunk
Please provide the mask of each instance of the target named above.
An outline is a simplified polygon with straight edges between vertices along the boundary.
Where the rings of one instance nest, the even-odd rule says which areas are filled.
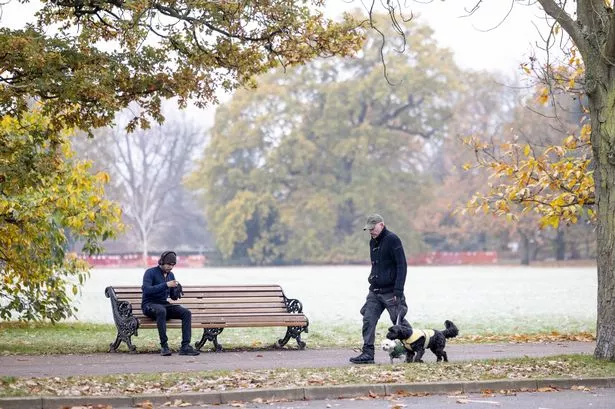
[[[480,139],[466,139],[465,143],[477,152],[477,166],[495,180],[486,192],[474,194],[467,208],[509,220],[536,212],[541,227],[576,223],[581,215],[593,218],[589,208],[595,200],[594,176],[589,168],[590,132],[590,126],[584,125],[579,135],[569,135],[562,145],[541,151],[530,144],[503,143],[497,157],[486,154],[489,148]]]

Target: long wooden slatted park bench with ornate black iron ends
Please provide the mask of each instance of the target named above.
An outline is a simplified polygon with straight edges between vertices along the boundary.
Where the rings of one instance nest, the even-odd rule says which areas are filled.
[[[224,328],[287,327],[284,338],[274,346],[281,348],[294,338],[300,349],[305,348],[301,333],[308,332],[309,321],[303,314],[299,300],[286,298],[279,285],[207,285],[183,286],[183,296],[171,303],[181,304],[192,312],[192,328],[203,328],[201,339],[195,343],[200,350],[211,341],[215,351],[222,350],[218,335]],[[136,352],[131,342],[142,328],[157,328],[156,321],[141,311],[141,287],[107,287],[105,295],[111,300],[117,337],[109,352],[117,352],[122,341],[130,352]],[[181,328],[181,320],[167,321],[167,328]]]

